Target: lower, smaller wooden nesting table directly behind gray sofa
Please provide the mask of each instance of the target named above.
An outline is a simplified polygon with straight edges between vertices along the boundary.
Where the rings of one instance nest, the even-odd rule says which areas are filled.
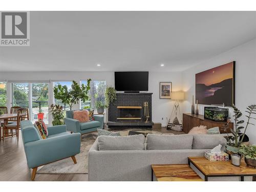
[[[151,165],[152,181],[203,181],[188,164]]]

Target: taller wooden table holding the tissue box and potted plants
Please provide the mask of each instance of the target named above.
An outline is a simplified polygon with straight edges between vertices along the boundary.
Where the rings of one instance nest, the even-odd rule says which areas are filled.
[[[188,165],[193,164],[203,175],[204,180],[208,177],[241,177],[252,176],[255,181],[256,168],[247,167],[244,159],[241,160],[241,166],[234,166],[231,161],[209,161],[205,157],[188,157]]]

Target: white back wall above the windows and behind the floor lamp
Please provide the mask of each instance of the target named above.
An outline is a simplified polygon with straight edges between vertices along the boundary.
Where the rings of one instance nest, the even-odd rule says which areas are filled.
[[[114,72],[0,72],[0,81],[60,81],[60,80],[86,80],[88,78],[94,80],[106,80],[107,86],[115,86]],[[172,81],[173,90],[182,90],[181,72],[150,72],[148,92],[152,92],[153,96],[153,121],[161,122],[166,125],[166,117],[170,117],[174,102],[170,99],[159,99],[159,82]],[[49,88],[52,88],[51,86]],[[51,94],[50,94],[51,95]],[[8,101],[9,102],[9,101]],[[53,102],[53,98],[49,98],[49,102]],[[74,105],[73,109],[78,109],[79,105]],[[182,113],[182,112],[181,112]],[[163,118],[163,120],[162,120]]]

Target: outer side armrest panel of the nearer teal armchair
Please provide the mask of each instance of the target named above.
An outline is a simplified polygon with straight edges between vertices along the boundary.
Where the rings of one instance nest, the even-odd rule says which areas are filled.
[[[51,163],[80,153],[81,134],[41,139],[25,144],[29,168]]]

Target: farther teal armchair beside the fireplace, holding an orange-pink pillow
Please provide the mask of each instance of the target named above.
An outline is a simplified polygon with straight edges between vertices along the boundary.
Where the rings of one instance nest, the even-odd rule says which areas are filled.
[[[97,129],[103,129],[104,117],[102,115],[94,115],[94,121],[81,123],[78,120],[73,119],[73,112],[73,110],[67,111],[67,117],[64,119],[68,131],[86,134],[97,131]]]

